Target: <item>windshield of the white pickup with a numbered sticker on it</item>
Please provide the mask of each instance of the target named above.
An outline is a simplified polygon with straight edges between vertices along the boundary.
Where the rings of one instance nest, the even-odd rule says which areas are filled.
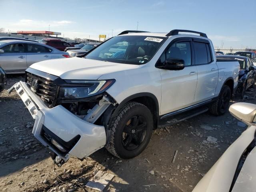
[[[153,36],[116,36],[87,54],[86,58],[122,64],[145,64],[166,39]]]

